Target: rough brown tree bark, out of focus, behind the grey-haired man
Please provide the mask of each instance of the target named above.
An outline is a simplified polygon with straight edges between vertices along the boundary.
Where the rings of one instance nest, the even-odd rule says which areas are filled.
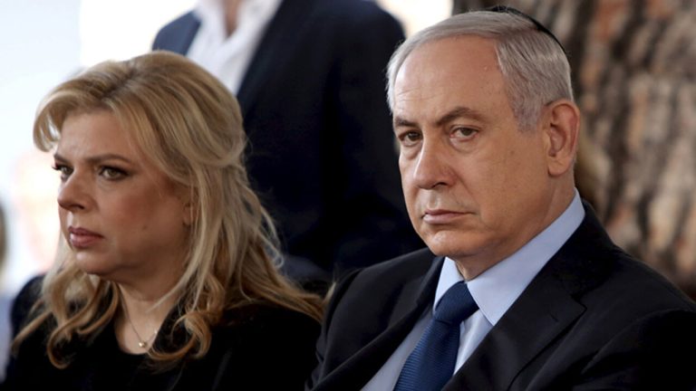
[[[506,3],[548,26],[569,52],[584,120],[581,194],[615,243],[696,298],[696,2]]]

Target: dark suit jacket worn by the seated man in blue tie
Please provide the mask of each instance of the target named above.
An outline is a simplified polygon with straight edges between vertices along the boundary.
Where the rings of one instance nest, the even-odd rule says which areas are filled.
[[[446,390],[691,389],[696,309],[585,221],[481,341]],[[358,390],[431,310],[442,258],[427,250],[354,272],[317,343],[315,390]]]

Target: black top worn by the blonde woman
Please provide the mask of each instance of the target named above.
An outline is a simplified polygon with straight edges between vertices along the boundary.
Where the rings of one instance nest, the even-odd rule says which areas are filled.
[[[24,324],[40,284],[34,280],[19,293],[13,326]],[[174,318],[170,317],[169,322]],[[166,322],[167,323],[167,322]],[[71,343],[73,361],[58,369],[46,356],[46,329],[24,340],[11,358],[2,389],[56,390],[294,390],[303,389],[314,367],[319,324],[304,314],[270,304],[253,304],[225,314],[213,329],[204,358],[189,358],[169,369],[154,370],[145,355],[119,348],[110,323],[92,340]],[[165,324],[162,330],[170,329]],[[155,344],[165,347],[171,335],[160,331]],[[176,337],[174,337],[176,339]]]

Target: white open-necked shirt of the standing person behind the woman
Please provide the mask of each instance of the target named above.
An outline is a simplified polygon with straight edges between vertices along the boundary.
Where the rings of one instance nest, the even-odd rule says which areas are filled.
[[[237,29],[227,36],[223,0],[200,0],[194,13],[200,27],[187,52],[237,94],[266,26],[282,0],[242,0],[237,11]]]

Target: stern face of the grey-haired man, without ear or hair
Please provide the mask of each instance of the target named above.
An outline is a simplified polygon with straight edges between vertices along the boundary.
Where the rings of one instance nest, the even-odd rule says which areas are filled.
[[[493,41],[427,43],[403,63],[393,98],[403,192],[430,250],[473,278],[544,229],[547,138],[518,129]]]

